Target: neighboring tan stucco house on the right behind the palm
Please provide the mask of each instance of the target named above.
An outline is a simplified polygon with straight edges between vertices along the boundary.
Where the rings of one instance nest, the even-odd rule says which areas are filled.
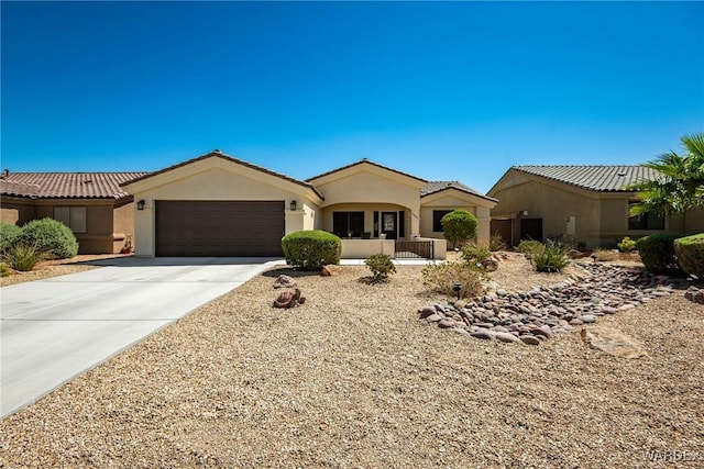
[[[624,236],[704,232],[704,210],[630,216],[638,199],[627,187],[657,176],[642,166],[514,166],[487,192],[498,199],[491,232],[514,246],[554,237],[588,248],[615,247]]]

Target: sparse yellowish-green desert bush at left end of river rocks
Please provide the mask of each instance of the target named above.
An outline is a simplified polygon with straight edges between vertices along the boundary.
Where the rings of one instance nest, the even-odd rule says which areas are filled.
[[[469,263],[442,263],[428,265],[422,269],[422,284],[431,291],[455,295],[454,283],[462,286],[462,298],[479,297],[484,292],[486,273]]]

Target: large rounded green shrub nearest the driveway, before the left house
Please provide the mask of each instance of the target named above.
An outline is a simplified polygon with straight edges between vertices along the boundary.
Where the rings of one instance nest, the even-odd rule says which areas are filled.
[[[34,246],[40,253],[59,259],[78,254],[78,242],[68,226],[53,219],[32,220],[22,227],[18,244]]]

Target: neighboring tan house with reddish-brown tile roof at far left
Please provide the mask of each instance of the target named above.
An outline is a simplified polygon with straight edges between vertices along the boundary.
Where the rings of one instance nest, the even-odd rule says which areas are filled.
[[[132,197],[120,183],[143,172],[0,175],[0,219],[23,225],[51,217],[68,225],[80,254],[119,253],[134,233]]]

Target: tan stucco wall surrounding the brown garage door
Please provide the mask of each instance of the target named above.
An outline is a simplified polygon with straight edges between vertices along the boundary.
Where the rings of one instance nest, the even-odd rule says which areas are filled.
[[[286,206],[286,233],[312,230],[319,198],[311,189],[222,158],[207,158],[175,168],[125,189],[134,200],[144,200],[144,210],[134,210],[134,253],[154,256],[155,201],[160,200],[229,200],[279,201]],[[316,200],[318,199],[318,200]],[[290,211],[292,200],[297,210]]]

